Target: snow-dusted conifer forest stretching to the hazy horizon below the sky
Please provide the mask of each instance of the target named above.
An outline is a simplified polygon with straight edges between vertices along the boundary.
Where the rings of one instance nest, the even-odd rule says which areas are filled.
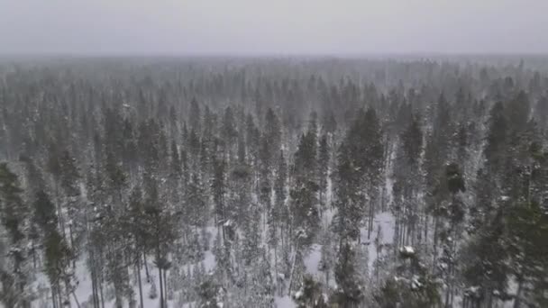
[[[542,57],[0,60],[0,306],[548,307]]]

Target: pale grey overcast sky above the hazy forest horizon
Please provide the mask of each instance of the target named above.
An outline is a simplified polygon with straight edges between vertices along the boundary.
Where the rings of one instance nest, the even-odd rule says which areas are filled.
[[[0,53],[546,53],[548,0],[0,0]]]

